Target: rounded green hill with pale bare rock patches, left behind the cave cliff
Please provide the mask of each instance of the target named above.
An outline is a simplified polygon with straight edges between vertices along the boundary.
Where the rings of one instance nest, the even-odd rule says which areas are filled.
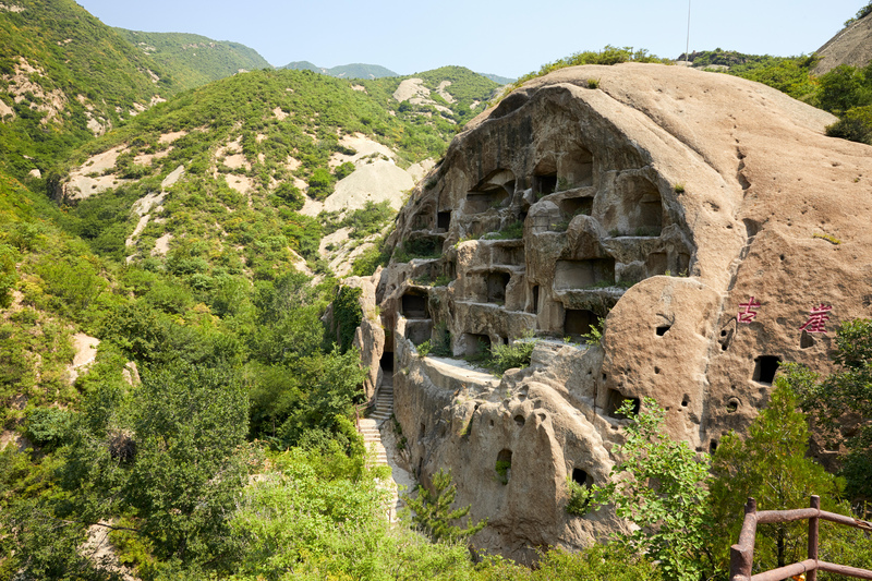
[[[80,169],[63,185],[74,202],[73,230],[94,252],[119,262],[133,256],[164,264],[153,257],[158,240],[172,239],[174,246],[196,239],[213,249],[204,273],[233,265],[233,271],[261,278],[291,268],[299,258],[290,251],[323,268],[317,249],[331,228],[329,217],[296,210],[306,190],[324,198],[353,169],[329,165],[331,156],[355,153],[342,137],[378,142],[401,167],[435,159],[496,86],[460,68],[419,77],[434,89],[448,81],[452,102],[434,93],[444,105],[407,107],[392,97],[399,78],[350,82],[290,70],[238,74],[183,93],[76,153],[69,166]],[[97,159],[109,161],[88,171]],[[161,186],[180,167],[183,177]],[[134,235],[134,203],[161,190],[162,209]]]

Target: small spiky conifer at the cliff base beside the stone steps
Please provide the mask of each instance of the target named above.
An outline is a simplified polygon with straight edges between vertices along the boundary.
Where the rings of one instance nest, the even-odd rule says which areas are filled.
[[[412,510],[414,522],[419,529],[427,534],[433,541],[456,542],[467,538],[484,529],[486,520],[475,524],[467,522],[467,526],[461,529],[451,522],[462,519],[470,512],[470,507],[451,510],[457,496],[457,486],[451,483],[451,472],[439,470],[433,475],[433,492],[423,486],[417,487],[417,496],[405,497],[407,506]]]

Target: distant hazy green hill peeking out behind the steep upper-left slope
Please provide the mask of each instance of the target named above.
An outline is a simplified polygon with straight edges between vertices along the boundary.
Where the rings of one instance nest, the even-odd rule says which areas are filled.
[[[183,33],[143,33],[114,28],[130,44],[160,63],[182,88],[271,65],[253,48]]]

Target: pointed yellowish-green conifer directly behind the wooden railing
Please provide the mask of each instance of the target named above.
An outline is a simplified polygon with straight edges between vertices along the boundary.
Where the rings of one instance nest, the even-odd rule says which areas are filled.
[[[788,370],[790,367],[788,366]],[[825,510],[838,508],[841,482],[822,465],[807,458],[809,429],[806,414],[797,410],[798,399],[785,376],[766,409],[751,424],[748,437],[736,433],[722,438],[713,457],[711,484],[714,538],[739,537],[744,518],[741,507],[749,496],[765,510],[808,506],[813,494],[821,496]],[[754,565],[761,570],[801,560],[808,525],[804,521],[761,525],[754,549]],[[728,543],[719,558],[726,564]]]

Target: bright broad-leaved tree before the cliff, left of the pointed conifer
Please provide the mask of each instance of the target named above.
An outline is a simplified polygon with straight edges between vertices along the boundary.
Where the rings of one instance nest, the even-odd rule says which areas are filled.
[[[618,413],[633,415],[631,400]],[[699,581],[703,570],[708,475],[707,458],[683,441],[663,435],[665,411],[645,398],[643,411],[627,426],[620,461],[605,486],[590,491],[590,509],[610,504],[615,513],[637,525],[616,541],[658,560],[666,579]]]

